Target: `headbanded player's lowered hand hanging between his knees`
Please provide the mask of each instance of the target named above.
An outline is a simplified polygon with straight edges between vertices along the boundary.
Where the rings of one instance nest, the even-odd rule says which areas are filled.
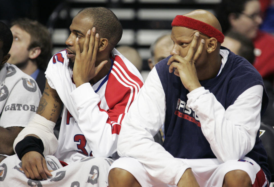
[[[178,187],[200,187],[191,168],[186,169],[181,179],[179,180]]]

